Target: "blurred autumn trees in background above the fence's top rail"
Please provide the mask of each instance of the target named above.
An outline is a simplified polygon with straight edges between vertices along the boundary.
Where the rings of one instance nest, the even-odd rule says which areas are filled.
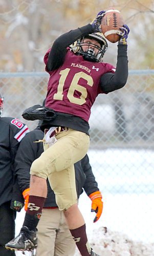
[[[111,6],[121,11],[130,27],[131,69],[152,69],[152,0],[0,0],[0,69],[42,71],[43,55],[57,36],[89,23],[97,12]],[[116,54],[117,45],[109,42],[104,61],[115,65]]]

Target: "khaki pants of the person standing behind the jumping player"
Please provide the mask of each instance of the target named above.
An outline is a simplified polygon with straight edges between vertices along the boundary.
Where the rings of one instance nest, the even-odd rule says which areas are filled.
[[[73,256],[76,244],[65,222],[63,211],[42,209],[37,225],[36,256]]]

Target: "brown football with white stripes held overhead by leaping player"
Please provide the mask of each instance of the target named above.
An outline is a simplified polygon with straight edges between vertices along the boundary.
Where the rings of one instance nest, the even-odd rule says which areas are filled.
[[[124,25],[120,11],[114,8],[108,9],[101,20],[101,30],[105,38],[110,42],[117,42],[120,38],[116,32]]]

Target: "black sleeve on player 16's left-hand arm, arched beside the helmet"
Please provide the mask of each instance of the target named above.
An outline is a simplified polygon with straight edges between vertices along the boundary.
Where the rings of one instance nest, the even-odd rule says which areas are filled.
[[[67,47],[73,44],[73,42],[75,42],[80,37],[93,32],[93,27],[88,24],[86,26],[71,30],[59,36],[54,41],[52,50],[49,53],[47,64],[48,71],[50,72],[52,70],[55,70],[62,65],[65,54],[67,53]]]

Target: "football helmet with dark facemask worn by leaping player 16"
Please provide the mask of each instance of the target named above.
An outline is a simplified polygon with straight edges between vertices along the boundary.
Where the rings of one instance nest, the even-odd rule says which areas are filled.
[[[100,46],[92,44],[91,42],[84,42],[85,38],[91,38],[99,42]],[[87,50],[84,52],[82,46],[87,46]],[[98,50],[96,53],[95,50]],[[106,40],[97,33],[92,33],[88,36],[79,38],[74,47],[74,52],[77,52],[83,56],[87,61],[99,62],[102,61],[105,51],[107,50]]]

